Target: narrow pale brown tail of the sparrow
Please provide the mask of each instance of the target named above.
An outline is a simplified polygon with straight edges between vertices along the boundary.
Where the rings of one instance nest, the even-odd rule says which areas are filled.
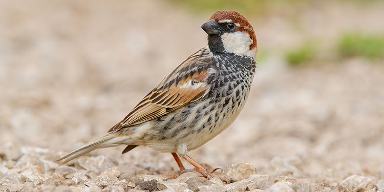
[[[78,158],[98,148],[112,147],[118,146],[119,144],[123,144],[121,142],[125,139],[125,137],[117,136],[116,133],[108,134],[99,139],[87,143],[86,145],[78,148],[77,150],[69,153],[64,157],[57,159],[56,161],[62,161],[61,164],[64,164],[68,161],[71,161],[72,159]]]

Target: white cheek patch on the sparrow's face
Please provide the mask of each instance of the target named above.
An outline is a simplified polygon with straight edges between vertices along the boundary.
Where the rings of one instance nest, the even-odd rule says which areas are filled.
[[[234,53],[240,56],[246,55],[254,57],[255,50],[249,50],[249,46],[253,43],[247,32],[237,31],[233,33],[224,33],[221,35],[224,49],[228,53]]]

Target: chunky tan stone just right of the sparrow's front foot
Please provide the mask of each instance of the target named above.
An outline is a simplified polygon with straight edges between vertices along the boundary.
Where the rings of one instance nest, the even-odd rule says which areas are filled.
[[[256,173],[251,163],[237,163],[223,167],[223,173],[230,178],[230,182],[241,181]]]

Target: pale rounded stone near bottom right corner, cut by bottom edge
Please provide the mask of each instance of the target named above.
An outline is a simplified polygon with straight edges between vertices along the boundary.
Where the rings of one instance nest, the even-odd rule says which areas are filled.
[[[359,175],[351,175],[340,182],[339,185],[355,191],[366,191],[375,186],[371,178]]]

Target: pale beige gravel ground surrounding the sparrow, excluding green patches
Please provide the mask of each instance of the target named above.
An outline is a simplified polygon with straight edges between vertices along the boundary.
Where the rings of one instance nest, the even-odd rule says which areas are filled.
[[[203,47],[208,14],[159,1],[0,1],[0,191],[384,191],[382,61],[289,68],[281,56],[307,36],[382,32],[370,18],[383,7],[314,7],[302,20],[316,27],[300,31],[284,15],[250,18],[259,47],[275,51],[258,62],[240,117],[190,152],[219,168],[208,181],[146,147],[54,161],[104,135]]]

